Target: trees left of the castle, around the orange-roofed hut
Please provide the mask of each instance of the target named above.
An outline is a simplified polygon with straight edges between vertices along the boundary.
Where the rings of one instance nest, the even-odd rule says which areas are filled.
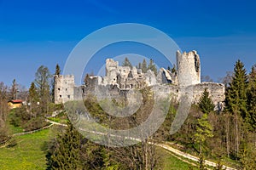
[[[59,65],[56,65],[55,72],[57,71],[60,72]],[[0,143],[10,139],[9,124],[25,131],[46,126],[45,116],[62,107],[54,105],[53,96],[53,75],[44,65],[36,71],[35,80],[28,91],[15,79],[10,87],[0,82]],[[13,99],[21,99],[25,103],[20,108],[9,111],[8,101]]]

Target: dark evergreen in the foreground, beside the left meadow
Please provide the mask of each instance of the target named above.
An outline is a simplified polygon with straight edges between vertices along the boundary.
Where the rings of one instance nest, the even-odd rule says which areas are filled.
[[[57,148],[51,156],[53,169],[81,169],[80,133],[67,122],[66,132],[57,139]]]

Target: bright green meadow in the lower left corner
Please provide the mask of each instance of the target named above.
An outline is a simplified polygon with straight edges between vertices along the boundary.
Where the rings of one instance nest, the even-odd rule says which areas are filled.
[[[50,129],[38,133],[15,137],[17,145],[11,148],[0,148],[0,169],[45,169],[46,159],[43,150],[49,140]]]

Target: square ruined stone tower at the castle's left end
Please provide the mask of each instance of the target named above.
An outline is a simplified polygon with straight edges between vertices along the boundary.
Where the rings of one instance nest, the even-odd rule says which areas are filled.
[[[74,99],[74,76],[55,75],[55,104]]]

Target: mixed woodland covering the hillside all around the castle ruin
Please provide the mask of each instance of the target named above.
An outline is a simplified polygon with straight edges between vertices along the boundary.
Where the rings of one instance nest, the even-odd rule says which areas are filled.
[[[129,60],[124,61],[123,65],[130,65]],[[149,66],[152,67],[152,63]],[[56,74],[61,74],[59,65],[56,65]],[[52,77],[49,69],[42,65],[28,91],[19,89],[15,80],[11,87],[0,83],[1,146],[14,147],[18,144],[10,127],[20,128],[22,132],[39,129],[50,124],[45,119],[53,112],[61,112],[61,123],[67,124],[67,127],[57,128],[55,131],[58,134],[47,141],[47,169],[162,169],[163,160],[155,144],[163,142],[170,142],[178,150],[200,157],[198,167],[189,169],[206,169],[206,159],[218,162],[216,169],[222,169],[223,165],[256,169],[256,65],[247,73],[241,60],[237,60],[234,71],[223,78],[223,111],[214,111],[206,88],[200,102],[191,106],[187,120],[177,133],[169,133],[179,105],[172,101],[168,104],[170,107],[166,120],[158,131],[148,139],[127,147],[108,147],[84,138],[68,120],[70,117],[63,105],[52,102]],[[30,105],[10,110],[8,101],[16,99],[18,92],[20,98],[26,98]],[[118,129],[120,124],[122,128],[136,127],[148,117],[153,104],[154,95],[150,87],[141,89],[141,93],[142,106],[136,114],[125,119],[109,116],[94,96],[84,99],[84,105],[97,122],[106,127]],[[49,119],[56,121],[57,118]]]

